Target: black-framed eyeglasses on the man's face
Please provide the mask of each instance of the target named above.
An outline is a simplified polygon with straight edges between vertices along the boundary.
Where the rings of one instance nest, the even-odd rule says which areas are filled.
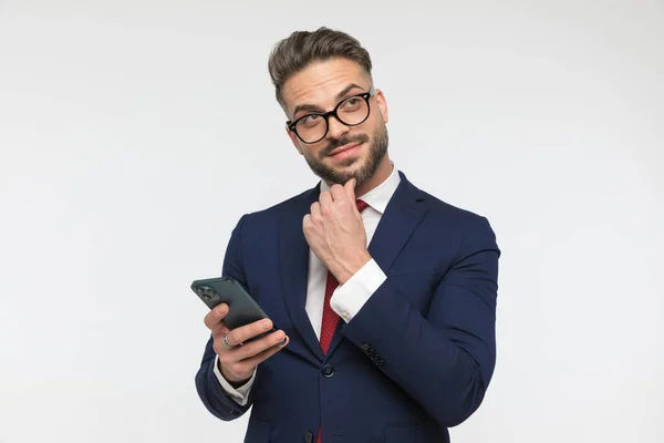
[[[369,119],[369,99],[375,94],[372,87],[369,92],[351,95],[339,102],[330,112],[314,112],[302,115],[298,120],[286,122],[286,126],[295,133],[305,144],[320,142],[328,135],[329,119],[333,116],[346,126],[357,126]]]

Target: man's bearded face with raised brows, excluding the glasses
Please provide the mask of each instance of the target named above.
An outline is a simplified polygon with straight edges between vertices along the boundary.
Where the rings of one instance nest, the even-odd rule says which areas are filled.
[[[284,83],[282,95],[288,119],[292,122],[312,112],[332,111],[345,99],[369,92],[371,86],[367,75],[353,61],[317,62]],[[361,97],[352,101],[349,109],[362,101]],[[387,105],[381,91],[370,97],[369,107],[369,117],[356,126],[347,126],[330,116],[326,135],[312,144],[303,143],[294,132],[288,131],[311,171],[329,184],[343,185],[354,177],[359,186],[371,178],[386,158]],[[324,125],[324,122],[319,124]]]

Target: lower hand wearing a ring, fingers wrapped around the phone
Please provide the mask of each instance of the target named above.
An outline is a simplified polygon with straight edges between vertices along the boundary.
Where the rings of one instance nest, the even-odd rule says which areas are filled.
[[[221,374],[229,383],[239,387],[251,378],[259,363],[283,349],[288,344],[289,338],[283,331],[274,331],[259,340],[241,344],[272,329],[272,321],[259,320],[230,330],[222,322],[227,313],[228,305],[221,303],[210,310],[204,321],[212,332],[214,349],[219,356]],[[232,344],[231,348],[222,341],[227,334],[227,340]]]

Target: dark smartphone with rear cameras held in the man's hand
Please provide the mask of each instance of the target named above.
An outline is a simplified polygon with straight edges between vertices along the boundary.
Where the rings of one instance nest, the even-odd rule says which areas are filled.
[[[191,290],[207,305],[210,310],[219,303],[228,305],[228,313],[221,320],[230,330],[258,320],[268,319],[268,315],[258,306],[256,300],[232,277],[216,277],[191,282]],[[247,342],[257,340],[276,329],[256,336]]]

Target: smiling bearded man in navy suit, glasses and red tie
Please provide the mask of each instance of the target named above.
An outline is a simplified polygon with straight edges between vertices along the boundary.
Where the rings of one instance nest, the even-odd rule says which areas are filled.
[[[448,442],[492,375],[494,233],[395,168],[371,70],[325,28],[270,55],[288,136],[322,181],[229,240],[222,274],[271,321],[228,330],[225,305],[205,318],[198,393],[226,421],[252,406],[247,443]]]

